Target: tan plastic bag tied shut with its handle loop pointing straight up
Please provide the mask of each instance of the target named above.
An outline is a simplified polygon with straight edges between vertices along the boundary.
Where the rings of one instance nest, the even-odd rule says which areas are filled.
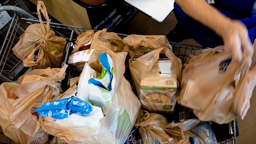
[[[43,24],[40,10],[46,18]],[[20,40],[13,47],[13,53],[23,60],[25,67],[35,66],[37,69],[57,68],[60,65],[66,39],[57,37],[50,29],[50,20],[44,3],[38,1],[37,14],[40,24],[31,24]]]

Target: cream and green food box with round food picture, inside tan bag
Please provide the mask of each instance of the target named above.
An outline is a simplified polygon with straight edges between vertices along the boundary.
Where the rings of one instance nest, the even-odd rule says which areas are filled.
[[[176,91],[177,83],[172,76],[147,77],[141,80],[140,101],[147,110],[171,114],[176,103]]]

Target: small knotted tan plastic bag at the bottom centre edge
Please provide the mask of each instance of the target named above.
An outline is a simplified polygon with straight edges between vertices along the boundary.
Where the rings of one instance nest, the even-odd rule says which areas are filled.
[[[165,133],[168,124],[164,116],[140,110],[137,121],[125,144],[169,143],[170,137]]]

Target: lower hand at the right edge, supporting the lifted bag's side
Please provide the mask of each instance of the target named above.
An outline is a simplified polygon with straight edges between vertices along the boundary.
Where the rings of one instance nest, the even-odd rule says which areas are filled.
[[[242,102],[242,113],[240,115],[241,119],[244,119],[244,116],[246,115],[248,109],[250,108],[250,99],[252,97],[253,89],[256,85],[256,79],[255,79],[255,72],[249,71],[249,75],[247,78],[247,83],[245,87],[245,96]]]

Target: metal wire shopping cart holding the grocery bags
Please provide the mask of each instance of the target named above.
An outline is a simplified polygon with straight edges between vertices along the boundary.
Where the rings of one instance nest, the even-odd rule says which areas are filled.
[[[18,5],[17,5],[18,6]],[[27,13],[26,11],[20,9],[17,6],[1,6],[0,12],[8,11],[10,15],[12,15],[12,20],[10,23],[4,26],[0,31],[1,36],[1,49],[0,49],[0,79],[2,82],[15,82],[20,75],[31,70],[31,68],[25,68],[23,66],[22,60],[19,60],[13,53],[12,47],[16,44],[19,40],[19,36],[24,33],[25,28],[29,24],[40,23],[40,21],[33,17],[31,14]],[[91,29],[76,27],[76,26],[69,26],[57,23],[50,23],[50,27],[57,36],[62,36],[67,39],[67,44],[65,46],[62,60],[60,67],[63,66],[67,62],[69,52],[70,52],[70,43],[75,41],[75,38],[79,34],[86,32]],[[128,35],[126,34],[119,34],[121,38],[125,38]],[[186,61],[188,54],[191,53],[193,50],[204,49],[203,47],[180,44],[180,43],[173,43],[170,42],[171,46],[173,47],[174,54],[179,57],[183,62]],[[237,119],[231,121],[228,124],[228,131],[229,135],[225,136],[225,138],[220,138],[221,143],[236,143],[236,136],[238,136],[238,125]],[[3,133],[0,133],[3,134]],[[11,140],[8,140],[10,143]],[[2,144],[4,142],[1,142]]]

